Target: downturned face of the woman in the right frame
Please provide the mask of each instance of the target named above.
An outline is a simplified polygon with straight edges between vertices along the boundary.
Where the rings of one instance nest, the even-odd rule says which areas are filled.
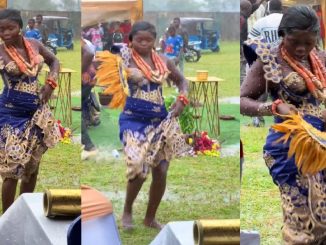
[[[283,45],[292,58],[301,61],[306,59],[317,44],[317,34],[309,31],[294,31],[286,34]]]

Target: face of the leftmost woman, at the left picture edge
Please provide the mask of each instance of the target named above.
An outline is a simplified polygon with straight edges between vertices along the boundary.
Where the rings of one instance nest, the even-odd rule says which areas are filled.
[[[14,44],[20,37],[20,26],[12,20],[0,20],[0,38],[5,44]]]

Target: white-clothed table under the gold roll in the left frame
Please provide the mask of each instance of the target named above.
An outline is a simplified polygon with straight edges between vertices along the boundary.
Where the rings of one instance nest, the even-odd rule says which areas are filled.
[[[65,245],[72,221],[46,218],[43,193],[25,193],[0,217],[0,244]]]

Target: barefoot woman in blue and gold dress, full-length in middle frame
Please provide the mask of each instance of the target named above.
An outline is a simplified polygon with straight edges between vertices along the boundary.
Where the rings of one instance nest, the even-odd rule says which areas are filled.
[[[176,120],[188,104],[188,83],[171,60],[154,52],[156,30],[152,24],[135,23],[129,39],[132,48],[122,52],[122,57],[129,67],[130,96],[119,119],[128,178],[122,224],[126,229],[132,228],[132,205],[151,168],[144,225],[161,229],[155,214],[165,191],[169,161],[172,156],[190,151]],[[162,97],[166,78],[175,82],[180,93],[169,113]]]

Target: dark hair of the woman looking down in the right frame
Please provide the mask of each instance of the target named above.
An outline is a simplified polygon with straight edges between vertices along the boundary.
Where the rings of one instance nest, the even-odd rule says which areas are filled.
[[[316,12],[306,5],[291,7],[284,13],[278,28],[278,35],[284,37],[298,30],[315,32],[316,34],[320,30]]]

